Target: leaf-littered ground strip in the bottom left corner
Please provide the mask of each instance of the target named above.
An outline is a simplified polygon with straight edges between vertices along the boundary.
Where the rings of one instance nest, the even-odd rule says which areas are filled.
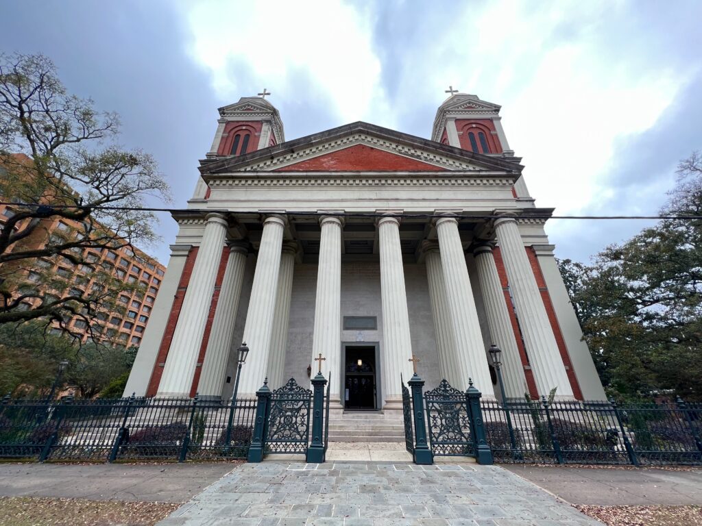
[[[152,526],[180,504],[1,497],[0,526]]]

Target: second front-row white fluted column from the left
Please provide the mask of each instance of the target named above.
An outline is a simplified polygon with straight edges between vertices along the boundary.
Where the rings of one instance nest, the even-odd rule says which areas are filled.
[[[239,395],[254,396],[268,374],[268,353],[273,334],[273,314],[278,290],[280,253],[283,244],[285,218],[266,217],[258,248],[256,271],[253,273],[249,311],[244,324],[244,342],[249,346],[249,357],[241,368]]]

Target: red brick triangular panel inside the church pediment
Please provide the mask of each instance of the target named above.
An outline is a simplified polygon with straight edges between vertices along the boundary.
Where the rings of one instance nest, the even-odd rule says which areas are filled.
[[[348,148],[332,151],[313,159],[277,168],[277,172],[395,172],[445,171],[445,168],[392,154],[377,148],[356,144]]]

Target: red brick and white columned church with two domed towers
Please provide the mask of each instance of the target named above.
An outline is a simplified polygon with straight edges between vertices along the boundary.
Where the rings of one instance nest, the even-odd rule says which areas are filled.
[[[265,93],[265,91],[264,91]],[[426,140],[357,122],[286,141],[265,97],[220,119],[128,379],[137,396],[239,396],[317,371],[336,407],[433,387],[604,400],[500,107],[451,93]],[[305,382],[303,382],[305,379]]]

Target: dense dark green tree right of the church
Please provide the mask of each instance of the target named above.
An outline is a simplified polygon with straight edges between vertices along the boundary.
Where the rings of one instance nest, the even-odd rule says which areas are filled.
[[[680,163],[666,216],[591,265],[559,262],[604,384],[702,400],[702,158]]]

